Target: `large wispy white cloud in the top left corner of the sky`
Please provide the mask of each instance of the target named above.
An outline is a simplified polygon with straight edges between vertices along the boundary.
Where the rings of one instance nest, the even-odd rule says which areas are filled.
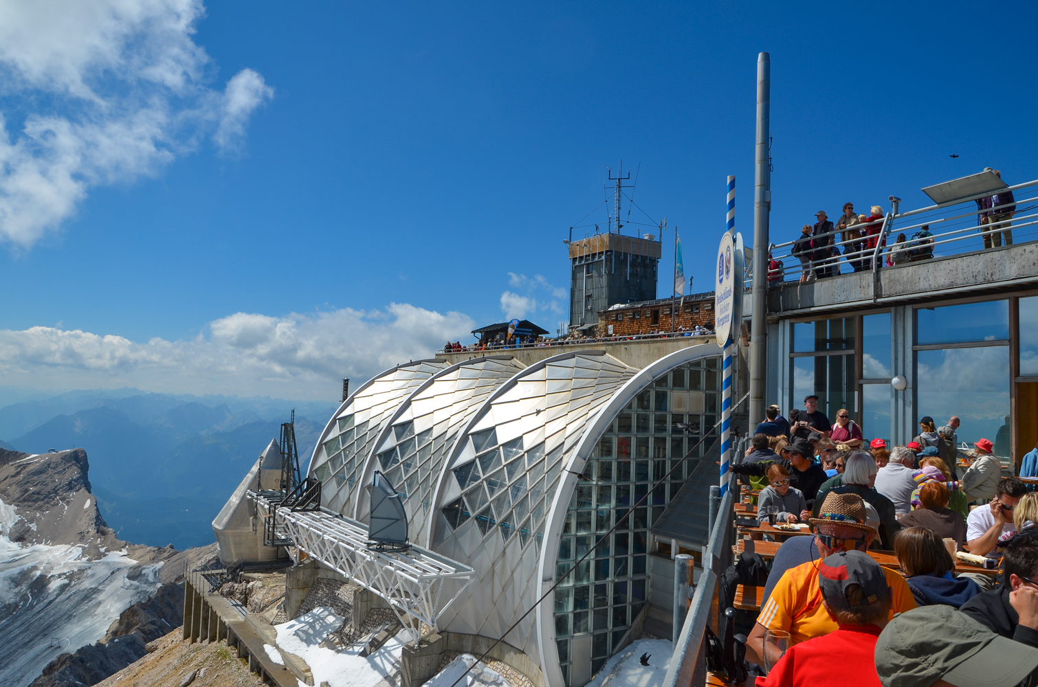
[[[0,2],[0,241],[30,248],[91,187],[154,175],[209,135],[240,146],[273,90],[252,70],[208,86],[203,12],[198,0]]]

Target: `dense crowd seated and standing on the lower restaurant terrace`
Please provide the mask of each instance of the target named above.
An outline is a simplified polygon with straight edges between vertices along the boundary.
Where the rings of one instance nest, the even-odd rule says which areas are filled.
[[[1038,686],[1038,493],[1002,476],[990,441],[962,451],[958,417],[925,416],[887,446],[845,410],[830,423],[813,394],[765,415],[732,472],[760,490],[761,522],[813,535],[774,555],[744,644],[769,670],[758,685]],[[999,574],[956,573],[958,552]]]

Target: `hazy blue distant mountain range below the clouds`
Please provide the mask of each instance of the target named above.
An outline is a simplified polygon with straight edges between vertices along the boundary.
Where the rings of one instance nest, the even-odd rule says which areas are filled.
[[[277,439],[292,402],[158,393],[70,392],[0,408],[0,447],[27,454],[82,447],[116,535],[177,549],[214,541],[212,520],[260,452]],[[336,404],[300,404],[300,467]]]

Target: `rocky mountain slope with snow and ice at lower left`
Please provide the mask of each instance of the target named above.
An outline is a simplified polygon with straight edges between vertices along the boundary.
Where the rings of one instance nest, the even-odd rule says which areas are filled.
[[[180,625],[177,581],[213,553],[120,541],[88,469],[81,448],[0,449],[2,685],[94,684],[137,660]]]

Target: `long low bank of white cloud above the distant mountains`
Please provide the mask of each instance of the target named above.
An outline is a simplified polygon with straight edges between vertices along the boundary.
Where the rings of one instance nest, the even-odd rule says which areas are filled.
[[[5,384],[40,389],[135,386],[170,393],[297,399],[334,396],[336,380],[366,381],[408,360],[431,357],[473,328],[460,312],[391,303],[274,318],[236,312],[209,336],[146,342],[79,330],[0,330]]]

